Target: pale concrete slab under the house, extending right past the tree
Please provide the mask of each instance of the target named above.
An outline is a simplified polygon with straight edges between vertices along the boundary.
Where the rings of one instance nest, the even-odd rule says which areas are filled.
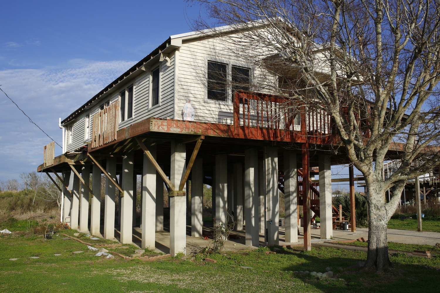
[[[103,229],[103,227],[102,227]],[[212,228],[209,226],[203,226],[203,231],[210,232]],[[140,228],[133,228],[133,243],[140,246],[142,239],[142,230]],[[320,230],[312,229],[312,243],[323,243],[320,241]],[[298,235],[299,242],[284,242],[284,227],[280,227],[279,231],[279,245],[295,245],[303,244],[303,228],[300,228],[300,234]],[[187,226],[187,254],[191,252],[198,251],[205,246],[208,246],[212,239],[203,239],[202,237],[191,237],[191,226]],[[102,237],[102,235],[99,235]],[[351,240],[363,237],[368,239],[368,228],[356,228],[356,232],[333,230],[334,241],[341,240]],[[119,239],[119,227],[115,228],[115,238]],[[225,250],[243,250],[243,249],[254,249],[257,247],[245,245],[245,233],[244,232],[231,232],[231,240],[225,242]],[[235,239],[232,239],[235,238]],[[116,240],[116,239],[115,239]],[[409,230],[397,230],[388,229],[388,241],[389,242],[399,242],[407,244],[427,244],[436,245],[440,243],[440,233],[439,232],[417,232]],[[260,246],[265,246],[266,242],[264,235],[260,234]],[[169,230],[165,227],[164,231],[156,232],[156,251],[169,253]]]

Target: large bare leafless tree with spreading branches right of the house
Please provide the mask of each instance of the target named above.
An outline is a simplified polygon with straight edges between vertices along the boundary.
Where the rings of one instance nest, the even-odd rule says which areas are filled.
[[[405,180],[439,164],[440,10],[436,0],[197,1],[238,58],[260,72],[255,91],[329,113],[348,159],[365,177],[366,267],[391,265],[387,223]],[[211,28],[231,25],[235,33]],[[399,168],[384,177],[384,160]],[[384,194],[390,189],[391,200]]]

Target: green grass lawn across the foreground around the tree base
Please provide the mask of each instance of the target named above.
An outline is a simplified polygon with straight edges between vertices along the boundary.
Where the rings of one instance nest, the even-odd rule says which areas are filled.
[[[70,233],[73,231],[66,234]],[[95,251],[88,251],[83,244],[61,237],[44,240],[41,236],[2,235],[0,292],[440,292],[436,281],[439,271],[425,268],[440,268],[440,258],[436,257],[392,256],[395,268],[383,274],[339,270],[359,260],[365,261],[367,253],[324,247],[306,252],[281,249],[276,250],[277,254],[266,254],[263,248],[251,252],[210,254],[210,258],[217,260],[215,264],[203,262],[203,255],[143,262],[120,257],[95,257]],[[130,252],[133,247],[122,250]],[[84,252],[75,254],[74,251]],[[55,256],[56,253],[61,256]],[[293,271],[325,272],[326,267],[332,268],[337,280],[293,274]]]

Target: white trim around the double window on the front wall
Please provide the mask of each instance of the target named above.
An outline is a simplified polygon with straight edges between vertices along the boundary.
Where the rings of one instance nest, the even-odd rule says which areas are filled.
[[[231,70],[232,70],[232,66],[237,66],[237,67],[242,67],[242,68],[249,68],[249,88],[252,90],[252,84],[253,84],[253,72],[254,72],[254,67],[250,66],[249,64],[242,62],[242,61],[238,61],[238,60],[234,60],[234,59],[226,59],[226,58],[218,58],[216,56],[205,56],[205,63],[204,63],[204,80],[203,80],[203,87],[204,87],[204,96],[203,96],[203,101],[205,103],[209,103],[209,104],[220,104],[220,105],[234,105],[232,98],[231,98],[231,94],[232,94],[232,87],[230,84],[230,81],[232,79],[231,76]],[[227,65],[227,72],[226,72],[226,79],[227,79],[227,87],[226,87],[226,101],[218,101],[218,100],[212,100],[212,99],[208,99],[208,61],[213,61],[213,62],[219,62],[219,63],[223,63]]]

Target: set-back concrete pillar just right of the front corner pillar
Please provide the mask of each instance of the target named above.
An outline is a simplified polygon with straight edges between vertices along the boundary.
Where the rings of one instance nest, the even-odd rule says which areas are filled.
[[[191,180],[191,236],[202,236],[203,159],[195,159]]]

